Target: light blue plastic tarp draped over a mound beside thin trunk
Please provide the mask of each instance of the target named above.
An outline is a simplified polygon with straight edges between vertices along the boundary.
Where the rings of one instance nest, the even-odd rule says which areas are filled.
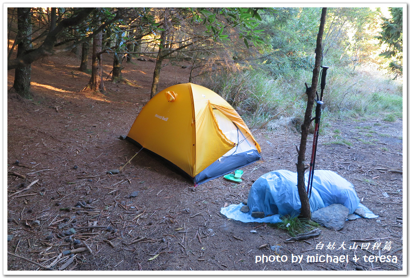
[[[309,173],[305,173],[305,186]],[[309,199],[310,210],[314,212],[334,203],[344,205],[353,214],[357,208],[363,208],[366,218],[375,218],[366,206],[360,203],[354,186],[338,174],[328,170],[316,170],[313,176],[312,195]],[[294,217],[300,214],[300,199],[297,192],[297,173],[288,170],[276,170],[262,175],[252,185],[247,199],[249,212],[241,212],[244,204],[231,204],[221,208],[221,213],[228,218],[241,222],[282,222],[281,217]],[[254,211],[264,212],[266,217],[251,216]],[[361,216],[356,215],[356,218]]]

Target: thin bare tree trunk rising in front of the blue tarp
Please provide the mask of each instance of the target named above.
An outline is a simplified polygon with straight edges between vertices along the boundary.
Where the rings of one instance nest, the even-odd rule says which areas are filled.
[[[320,66],[322,61],[322,37],[323,37],[323,30],[325,28],[325,20],[326,20],[326,11],[327,8],[322,8],[322,16],[320,19],[320,27],[319,33],[316,40],[316,60],[315,60],[315,67],[313,69],[313,76],[312,76],[312,86],[306,91],[308,95],[308,101],[306,106],[305,112],[305,119],[301,126],[302,129],[302,136],[300,138],[300,146],[298,150],[297,156],[297,191],[299,193],[301,209],[300,209],[300,217],[310,220],[310,204],[309,204],[309,197],[306,193],[305,187],[305,170],[307,167],[305,166],[305,153],[306,153],[306,142],[309,132],[309,126],[311,124],[311,117],[312,117],[312,110],[315,100],[315,93],[318,88],[319,82],[319,73],[320,73]]]

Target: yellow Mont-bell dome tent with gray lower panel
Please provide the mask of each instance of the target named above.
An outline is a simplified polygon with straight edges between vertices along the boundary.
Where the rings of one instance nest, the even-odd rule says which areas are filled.
[[[259,144],[232,106],[193,83],[155,95],[127,139],[169,160],[196,184],[261,159]]]

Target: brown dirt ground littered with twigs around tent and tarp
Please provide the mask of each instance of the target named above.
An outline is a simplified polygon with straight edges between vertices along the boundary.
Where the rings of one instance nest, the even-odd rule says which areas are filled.
[[[112,60],[105,57],[106,77]],[[247,199],[261,175],[296,171],[300,137],[290,127],[253,131],[264,159],[242,168],[240,184],[217,178],[193,189],[144,151],[122,173],[107,174],[139,151],[119,136],[127,134],[149,100],[155,63],[145,58],[124,63],[123,75],[132,85],[109,78],[106,91],[89,93],[80,92],[89,75],[78,71],[80,60],[74,54],[51,56],[33,64],[33,100],[8,95],[8,252],[64,271],[403,270],[402,119],[331,122],[319,138],[316,169],[333,170],[349,180],[361,202],[379,217],[347,221],[340,231],[320,227],[318,237],[286,243],[286,231],[227,219],[220,209]],[[188,82],[190,69],[181,65],[162,70],[160,90]],[[7,81],[11,87],[13,71]],[[130,198],[135,191],[138,195]],[[89,226],[97,227],[85,228]],[[64,235],[73,227],[76,234]],[[276,256],[271,245],[282,246],[281,261],[255,263],[257,256]],[[78,247],[92,253],[64,252]],[[306,256],[316,254],[348,255],[349,261],[306,262]],[[304,258],[292,262],[292,255]],[[357,262],[355,255],[361,258]],[[393,257],[376,262],[365,261],[365,255]],[[7,255],[7,270],[44,268]]]

